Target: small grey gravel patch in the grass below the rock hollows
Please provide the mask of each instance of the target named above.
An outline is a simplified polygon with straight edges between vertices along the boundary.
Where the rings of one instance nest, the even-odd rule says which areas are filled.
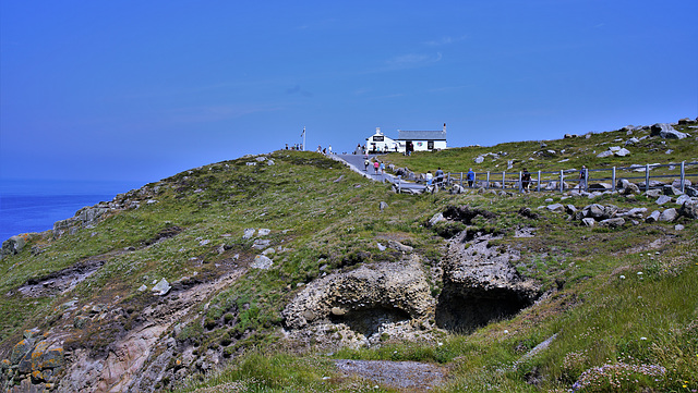
[[[347,376],[359,376],[404,391],[426,391],[444,379],[443,369],[418,361],[335,360],[335,365]]]

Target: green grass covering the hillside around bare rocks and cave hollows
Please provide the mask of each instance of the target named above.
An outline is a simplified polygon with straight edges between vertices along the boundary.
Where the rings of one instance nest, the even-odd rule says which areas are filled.
[[[645,145],[630,148],[633,156],[625,160],[600,160],[592,153],[593,149],[599,152],[606,147],[593,145],[621,136],[626,137],[625,133],[615,132],[594,134],[590,139],[546,142],[546,149],[566,150],[562,157],[547,159],[533,156],[540,150],[539,143],[533,142],[417,153],[411,158],[389,155],[387,159],[417,172],[438,165],[456,172],[467,170],[472,158],[489,151],[509,155],[493,162],[488,159],[479,170],[501,170],[502,165],[506,168],[505,160],[512,159],[526,161],[527,168],[534,171],[578,168],[581,163],[594,168],[691,161],[698,157],[693,138],[669,140],[666,145],[657,138],[646,139]],[[664,155],[665,148],[674,149],[675,153]],[[652,149],[658,150],[650,151]],[[529,157],[537,159],[531,161]],[[479,225],[507,234],[498,243],[521,250],[522,259],[517,266],[521,273],[540,280],[546,288],[564,283],[563,290],[512,320],[492,323],[470,335],[448,335],[441,345],[397,343],[376,349],[341,351],[335,357],[440,363],[449,369],[452,377],[442,391],[479,392],[488,388],[537,391],[527,383],[532,379],[539,379],[543,390],[562,391],[585,370],[606,363],[616,366],[602,369],[599,374],[630,372],[633,380],[640,381],[631,388],[638,391],[642,385],[658,391],[682,391],[684,384],[698,389],[695,382],[698,376],[695,322],[698,319],[695,249],[698,225],[695,222],[683,221],[686,229],[681,232],[674,231],[673,224],[664,223],[626,225],[613,231],[589,230],[555,213],[541,213],[540,220],[516,214],[522,206],[543,205],[543,199],[551,196],[546,194],[507,198],[477,194],[395,195],[386,186],[370,183],[312,152],[280,151],[270,158],[274,165],[248,165],[255,162],[254,159],[243,158],[180,173],[157,184],[159,193],[153,198],[158,204],[115,214],[96,229],[82,230],[56,242],[35,238],[33,244],[48,246],[45,253],[33,256],[28,251],[31,247],[26,247],[20,255],[2,260],[0,293],[3,294],[29,278],[94,256],[101,256],[106,263],[67,296],[35,299],[4,296],[0,311],[8,318],[0,322],[0,348],[7,353],[22,329],[48,329],[60,323],[60,305],[73,297],[80,305],[87,305],[99,303],[99,295],[119,295],[121,306],[137,310],[147,304],[147,296],[137,292],[143,283],[149,284],[163,277],[170,282],[193,274],[215,277],[220,273],[217,266],[225,266],[234,254],[239,255],[240,265],[249,263],[258,253],[251,249],[251,240],[242,238],[243,230],[268,228],[273,245],[282,246],[274,256],[276,268],[250,271],[233,287],[210,299],[212,306],[198,317],[203,323],[189,324],[178,336],[178,340],[197,343],[200,353],[217,345],[236,356],[241,348],[252,345],[258,352],[248,349],[246,355],[237,356],[227,370],[206,381],[192,382],[183,390],[205,385],[218,385],[221,390],[234,385],[243,391],[369,390],[373,383],[337,378],[324,381],[323,376],[332,376],[326,356],[286,353],[274,333],[280,323],[281,308],[299,284],[318,275],[322,266],[326,266],[326,271],[341,269],[348,256],[358,251],[369,251],[371,260],[395,258],[377,249],[375,240],[380,237],[399,238],[414,246],[429,262],[435,262],[443,240],[422,224],[447,205],[470,204],[498,213],[497,219]],[[562,159],[569,161],[557,162]],[[517,165],[522,164],[515,163],[515,170]],[[341,175],[340,182],[334,182]],[[559,195],[553,197],[559,200]],[[380,201],[388,202],[384,212],[378,210]],[[652,208],[652,201],[645,197],[627,200],[604,196],[595,201]],[[565,202],[580,207],[589,200],[571,198]],[[522,225],[537,228],[537,236],[514,238],[512,230]],[[163,230],[173,226],[181,229],[178,235],[146,246]],[[647,246],[655,238],[666,242],[651,253],[635,248]],[[210,242],[202,245],[206,240]],[[216,248],[221,244],[226,244],[228,250],[218,254]],[[135,250],[121,253],[124,247],[135,247]],[[640,271],[642,274],[637,274]],[[236,327],[210,331],[202,328],[209,322],[214,326],[233,308],[244,309]],[[226,345],[230,336],[241,332],[246,332],[243,340]],[[528,349],[554,333],[558,336],[549,351],[513,367]],[[623,369],[623,364],[661,365],[667,371],[661,378],[650,378],[646,371],[633,371],[630,366]],[[597,381],[586,389],[609,391],[612,388]],[[617,391],[628,389],[622,386]]]

